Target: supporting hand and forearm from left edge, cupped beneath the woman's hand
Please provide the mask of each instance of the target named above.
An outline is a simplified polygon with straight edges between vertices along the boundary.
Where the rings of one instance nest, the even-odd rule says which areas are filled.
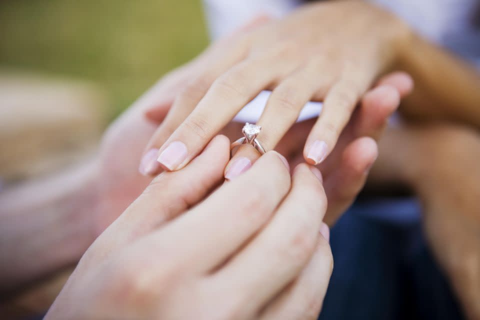
[[[75,264],[93,240],[141,193],[151,180],[135,170],[143,145],[167,113],[175,92],[185,87],[188,75],[196,70],[194,64],[186,64],[140,97],[109,126],[98,156],[90,163],[28,181],[0,194],[0,256],[7,261],[0,264],[1,292],[16,290]],[[328,171],[337,172],[339,177],[328,179],[325,171],[326,192],[331,198],[325,220],[330,224],[362,187],[365,170],[376,157],[374,139],[398,106],[399,96],[411,89],[411,79],[402,74],[385,79],[378,85],[383,88],[364,96],[360,108],[363,111],[358,112],[358,120],[354,121],[359,124],[350,125],[361,129],[353,135],[345,134],[345,143],[339,143],[334,152],[342,160],[332,163]],[[148,112],[151,105],[157,106],[153,113]],[[154,117],[155,123],[145,114]],[[291,130],[285,143],[281,143],[285,148],[278,150],[290,162],[299,162],[297,139],[304,138],[308,126],[311,123]],[[349,132],[352,131],[355,130]],[[238,132],[234,124],[225,129],[232,138]],[[31,259],[37,263],[28,263]]]

